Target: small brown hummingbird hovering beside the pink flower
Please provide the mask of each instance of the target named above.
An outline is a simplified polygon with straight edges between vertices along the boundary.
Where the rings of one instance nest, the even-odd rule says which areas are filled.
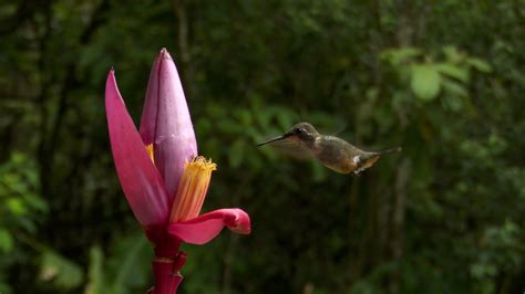
[[[322,165],[340,174],[353,172],[358,175],[372,167],[381,156],[401,151],[401,147],[381,151],[364,151],[341,138],[319,134],[309,123],[299,123],[279,137],[262,141],[257,147],[274,141],[296,144],[301,149],[309,151]]]

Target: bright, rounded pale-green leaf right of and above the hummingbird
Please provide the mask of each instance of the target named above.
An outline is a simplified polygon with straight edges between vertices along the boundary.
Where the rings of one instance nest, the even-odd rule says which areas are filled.
[[[431,64],[413,65],[410,85],[418,98],[432,101],[440,93],[440,73]]]

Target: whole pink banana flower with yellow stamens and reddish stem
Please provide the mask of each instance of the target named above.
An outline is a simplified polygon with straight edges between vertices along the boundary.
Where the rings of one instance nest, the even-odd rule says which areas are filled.
[[[230,208],[200,214],[216,165],[197,154],[197,143],[175,63],[163,49],[150,75],[136,129],[110,71],[105,108],[116,174],[126,200],[154,245],[151,294],[173,294],[186,254],[181,244],[204,244],[224,227],[248,234],[250,219]]]

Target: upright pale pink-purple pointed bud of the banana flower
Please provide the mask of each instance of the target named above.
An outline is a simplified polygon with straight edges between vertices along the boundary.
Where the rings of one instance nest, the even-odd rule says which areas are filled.
[[[140,133],[144,145],[153,144],[155,166],[172,202],[185,164],[197,156],[197,141],[181,78],[166,49],[150,74]]]

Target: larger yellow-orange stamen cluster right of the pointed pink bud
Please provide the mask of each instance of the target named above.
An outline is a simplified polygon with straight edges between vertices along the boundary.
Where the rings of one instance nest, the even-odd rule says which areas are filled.
[[[202,156],[186,164],[173,202],[171,222],[184,221],[198,216],[214,170],[217,170],[217,165],[212,162],[212,159],[206,160]]]

